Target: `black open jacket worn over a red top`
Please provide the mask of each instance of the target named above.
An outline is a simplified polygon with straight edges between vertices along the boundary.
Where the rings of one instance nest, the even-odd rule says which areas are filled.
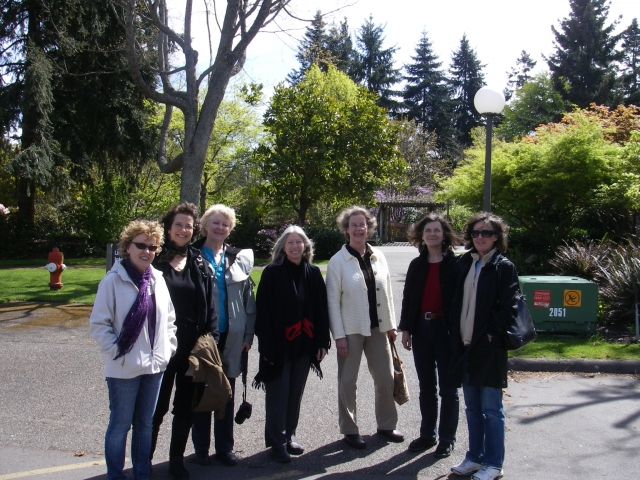
[[[449,311],[451,301],[456,288],[456,256],[446,251],[444,252],[442,263],[440,264],[440,295],[442,296],[442,307],[444,309],[444,321],[449,326]],[[429,276],[429,250],[425,248],[420,256],[414,258],[409,264],[407,277],[404,282],[402,295],[402,311],[400,313],[400,330],[407,330],[413,333],[415,321],[420,316],[420,303],[424,284]],[[450,328],[450,327],[449,327]]]

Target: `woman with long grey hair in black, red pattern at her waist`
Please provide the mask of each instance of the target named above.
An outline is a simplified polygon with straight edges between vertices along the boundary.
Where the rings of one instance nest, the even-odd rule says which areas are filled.
[[[311,264],[313,245],[304,231],[288,227],[276,241],[256,295],[260,365],[254,386],[266,391],[265,441],[278,462],[301,455],[296,442],[302,394],[310,368],[331,345],[327,291]]]

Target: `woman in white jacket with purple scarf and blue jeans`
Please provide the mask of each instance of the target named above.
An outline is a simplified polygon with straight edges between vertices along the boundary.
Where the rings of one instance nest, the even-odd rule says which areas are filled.
[[[108,480],[127,478],[123,469],[131,426],[133,478],[149,478],[153,412],[162,373],[177,347],[169,291],[162,274],[151,266],[162,241],[158,222],[134,220],[122,231],[122,261],[100,282],[89,318],[109,389],[104,447]]]

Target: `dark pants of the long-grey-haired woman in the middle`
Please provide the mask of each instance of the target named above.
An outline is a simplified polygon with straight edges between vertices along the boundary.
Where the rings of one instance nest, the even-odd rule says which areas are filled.
[[[282,375],[265,383],[264,437],[267,447],[284,449],[287,442],[295,440],[310,366],[311,358],[308,355],[287,361],[282,368]]]

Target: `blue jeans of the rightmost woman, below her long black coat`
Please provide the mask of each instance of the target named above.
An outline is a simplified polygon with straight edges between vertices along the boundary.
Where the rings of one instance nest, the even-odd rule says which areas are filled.
[[[489,467],[502,468],[506,429],[502,389],[469,386],[468,376],[465,375],[462,391],[469,428],[467,459]]]

